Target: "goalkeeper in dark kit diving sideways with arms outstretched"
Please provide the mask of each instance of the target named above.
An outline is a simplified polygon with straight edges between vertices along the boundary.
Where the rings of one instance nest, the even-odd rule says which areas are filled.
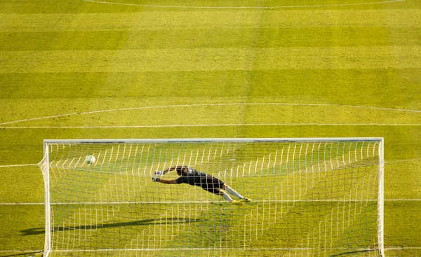
[[[160,177],[163,176],[163,174],[171,172],[174,169],[180,176],[178,179],[160,179]],[[237,193],[236,190],[230,188],[224,181],[221,181],[220,179],[217,179],[212,175],[203,172],[198,172],[196,171],[196,169],[192,169],[187,166],[174,166],[164,170],[163,172],[155,172],[154,176],[152,176],[152,181],[166,184],[188,183],[192,186],[200,186],[201,188],[210,193],[214,193],[215,195],[221,195],[228,202],[232,202],[233,204],[241,206],[244,205],[243,202],[251,202],[249,198],[243,197],[242,195]],[[232,198],[227,193],[225,193],[224,190],[226,190],[230,195],[238,197],[239,200],[232,200]]]

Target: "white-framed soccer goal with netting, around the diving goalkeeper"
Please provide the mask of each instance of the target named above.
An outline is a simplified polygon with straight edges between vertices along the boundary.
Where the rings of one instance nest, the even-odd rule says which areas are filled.
[[[44,140],[44,256],[384,256],[383,165],[382,138]],[[251,202],[152,181],[175,166]]]

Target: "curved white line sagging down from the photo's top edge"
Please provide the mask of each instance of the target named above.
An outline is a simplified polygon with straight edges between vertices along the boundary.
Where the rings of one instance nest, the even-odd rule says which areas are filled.
[[[406,0],[389,0],[389,1],[377,1],[377,2],[366,2],[366,3],[354,3],[354,4],[319,4],[319,5],[308,5],[308,6],[159,6],[159,5],[147,5],[147,4],[126,4],[126,3],[113,3],[109,1],[95,1],[95,0],[83,0],[91,3],[98,4],[115,4],[121,6],[142,6],[152,8],[191,8],[191,9],[275,9],[275,8],[320,8],[320,7],[332,7],[332,6],[362,6],[370,4],[389,4],[396,2],[403,2]]]

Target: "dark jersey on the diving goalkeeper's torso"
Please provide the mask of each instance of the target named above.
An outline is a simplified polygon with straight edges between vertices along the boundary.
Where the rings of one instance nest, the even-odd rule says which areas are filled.
[[[201,188],[208,190],[210,193],[218,193],[218,188],[224,187],[224,181],[221,181],[212,175],[198,172],[196,169],[189,167],[187,167],[187,174],[182,174],[182,176],[180,176],[175,181],[178,184],[188,183],[192,186],[200,186]]]

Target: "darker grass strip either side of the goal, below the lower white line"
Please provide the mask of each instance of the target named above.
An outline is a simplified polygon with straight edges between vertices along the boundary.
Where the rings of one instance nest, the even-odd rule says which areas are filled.
[[[385,202],[386,246],[419,246],[421,229],[415,224],[420,223],[421,216],[417,214],[420,208],[420,202]],[[0,235],[1,251],[43,249],[43,205],[0,205],[0,215],[3,221],[0,224],[3,232]],[[15,242],[20,242],[20,246],[16,246]]]

